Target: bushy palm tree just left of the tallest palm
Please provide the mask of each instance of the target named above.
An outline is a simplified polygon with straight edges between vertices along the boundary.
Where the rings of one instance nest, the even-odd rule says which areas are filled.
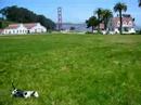
[[[103,10],[102,15],[103,15],[102,17],[103,17],[103,22],[104,22],[104,28],[106,30],[107,29],[108,21],[113,16],[113,13],[112,13],[111,10],[105,9],[105,10]]]

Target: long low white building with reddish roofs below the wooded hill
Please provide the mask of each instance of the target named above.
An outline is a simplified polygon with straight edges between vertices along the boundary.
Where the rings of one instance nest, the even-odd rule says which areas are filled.
[[[2,35],[25,35],[25,34],[40,34],[46,32],[46,27],[41,26],[40,23],[30,24],[11,24],[7,28],[2,29]]]

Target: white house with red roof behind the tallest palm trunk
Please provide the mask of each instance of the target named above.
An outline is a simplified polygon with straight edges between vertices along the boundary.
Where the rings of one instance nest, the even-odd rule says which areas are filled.
[[[134,22],[131,16],[123,16],[123,34],[134,34]],[[119,17],[113,17],[108,24],[108,30],[114,34],[119,34],[120,21]]]

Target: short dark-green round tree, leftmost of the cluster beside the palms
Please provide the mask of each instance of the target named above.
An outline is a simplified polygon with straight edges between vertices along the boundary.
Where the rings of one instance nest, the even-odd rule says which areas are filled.
[[[92,32],[94,27],[99,25],[99,19],[95,16],[91,16],[88,21],[86,21],[87,27],[92,27]]]

